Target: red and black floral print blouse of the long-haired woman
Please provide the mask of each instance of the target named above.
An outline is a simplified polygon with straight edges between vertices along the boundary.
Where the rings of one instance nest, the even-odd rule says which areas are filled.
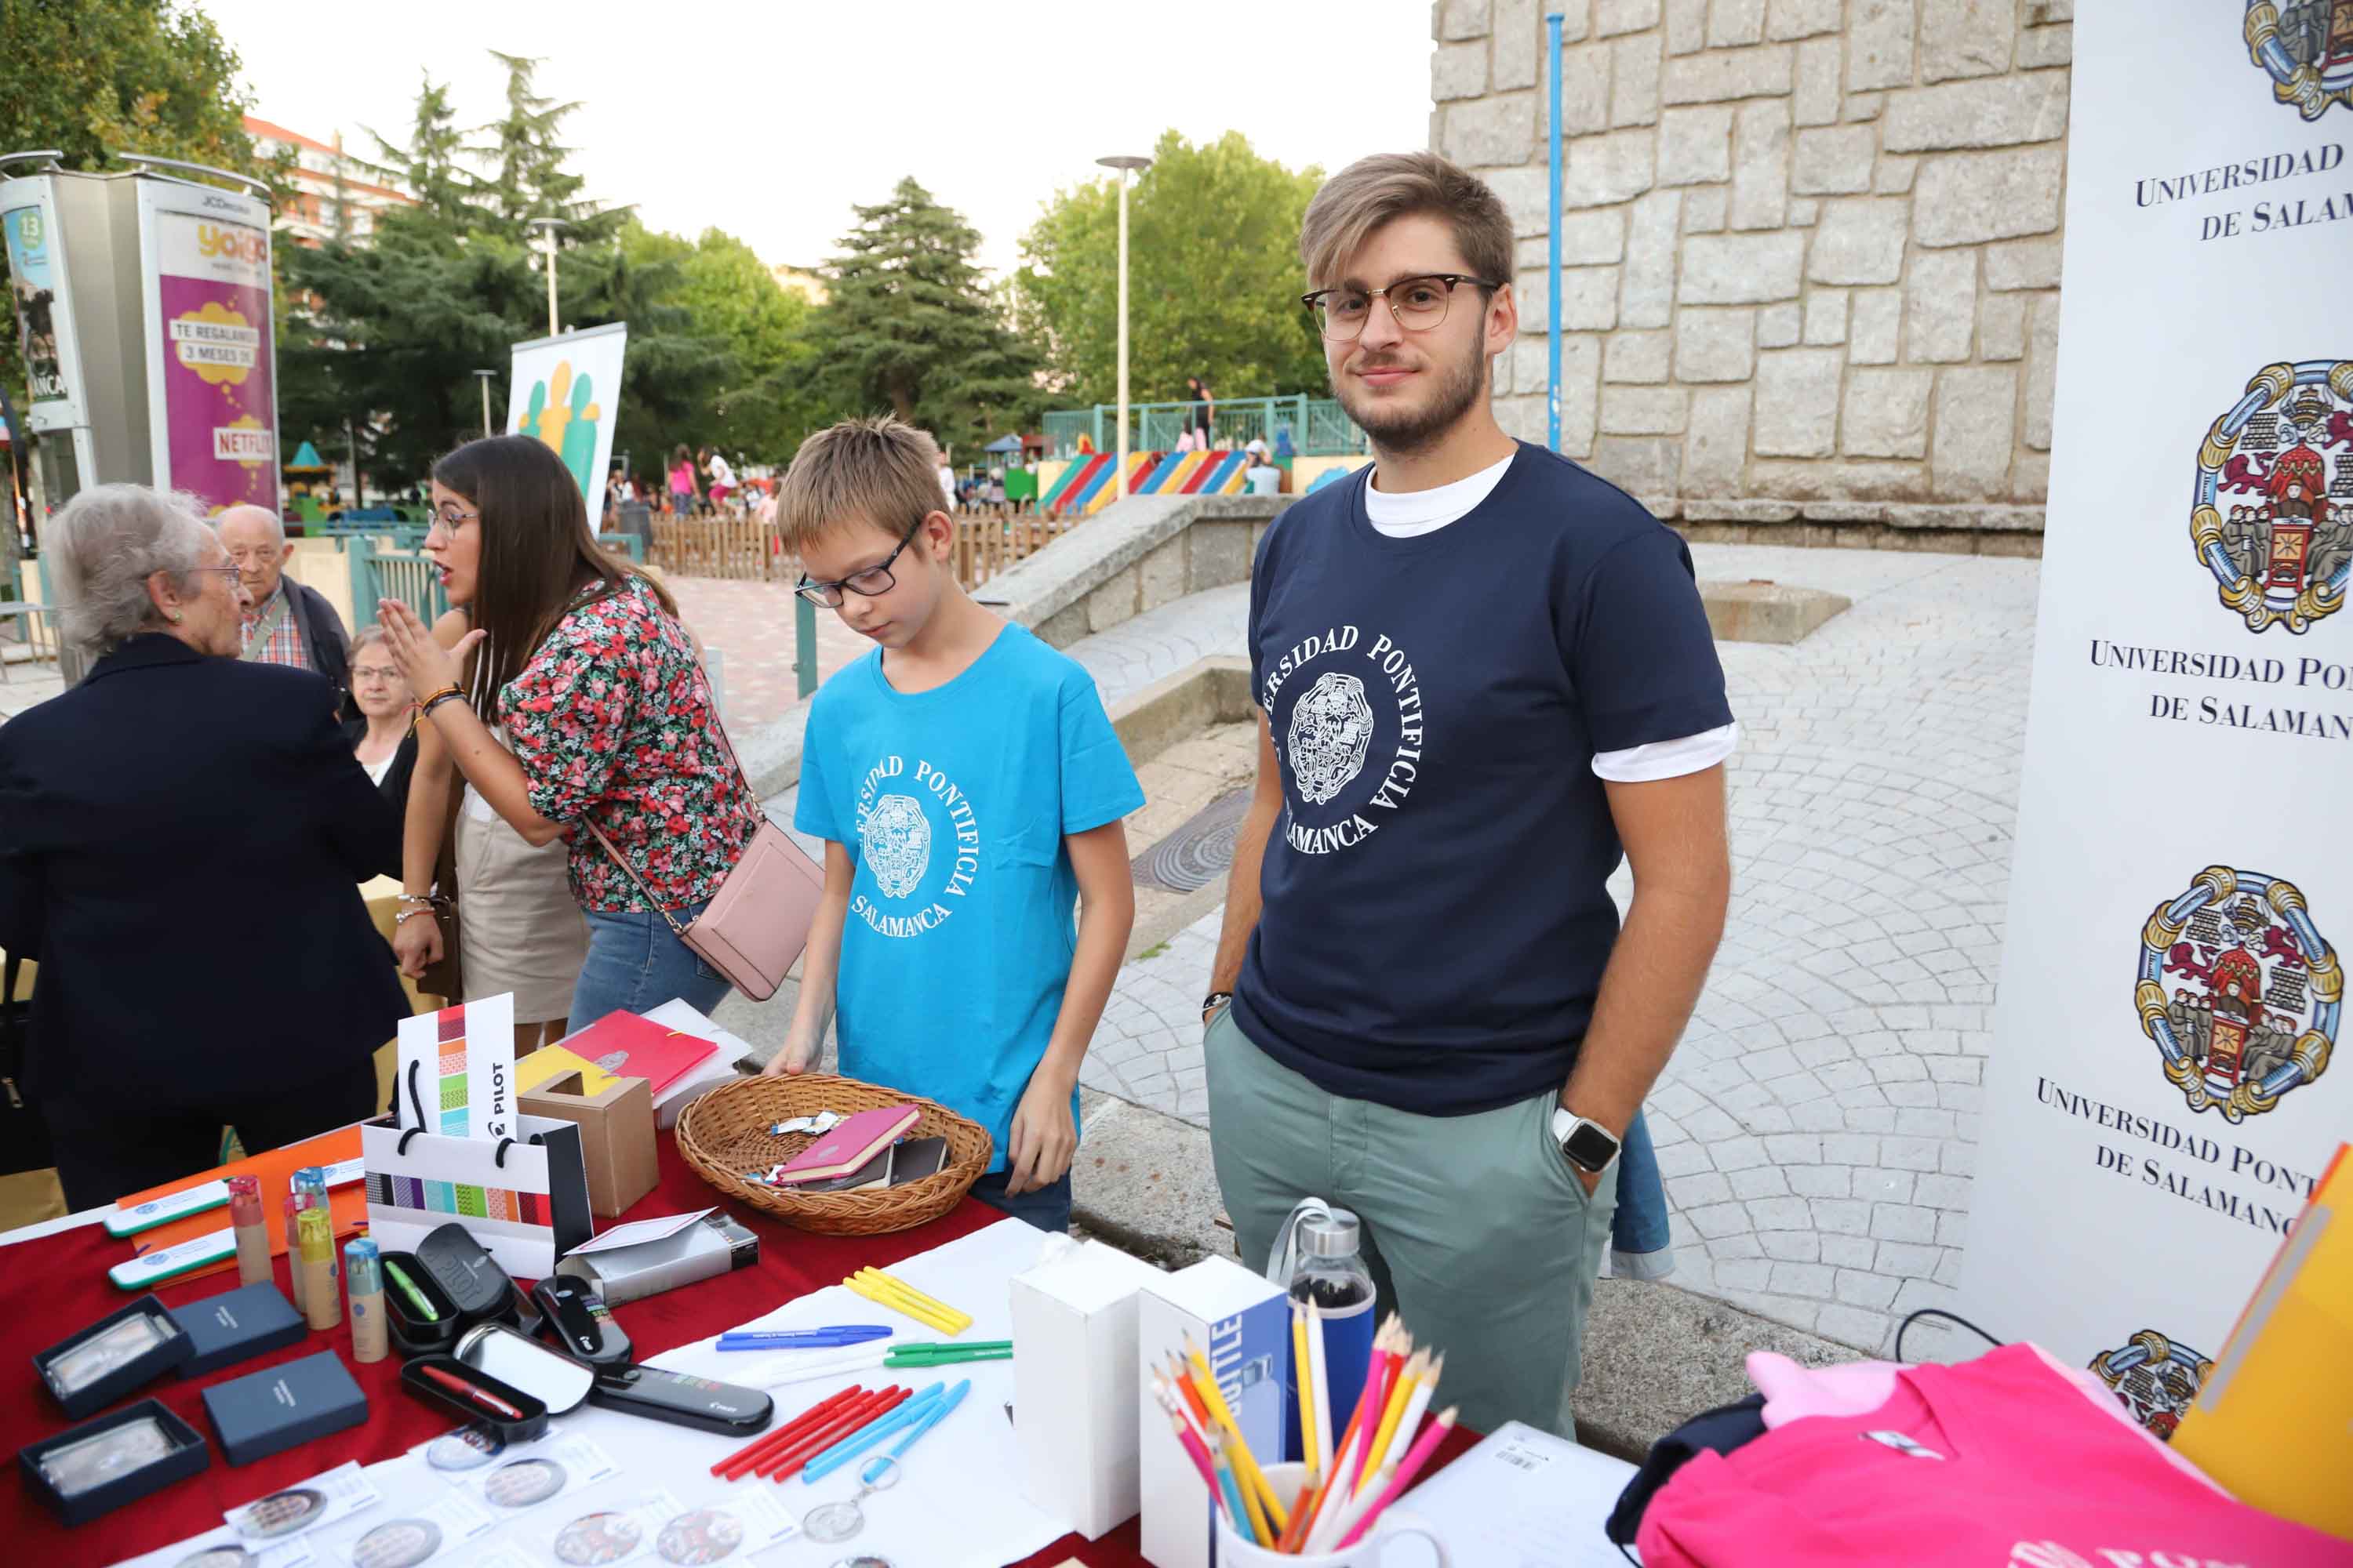
[[[565,825],[584,910],[680,910],[734,870],[753,832],[744,776],[715,733],[694,644],[645,578],[576,602],[499,693],[499,717],[532,809]],[[588,823],[628,856],[652,903]]]

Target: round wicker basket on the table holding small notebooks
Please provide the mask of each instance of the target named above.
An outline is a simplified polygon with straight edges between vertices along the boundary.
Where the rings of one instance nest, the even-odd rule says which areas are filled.
[[[746,1171],[767,1171],[816,1143],[816,1133],[776,1138],[767,1131],[774,1124],[821,1110],[849,1114],[885,1105],[913,1105],[922,1112],[908,1138],[948,1140],[948,1164],[936,1175],[864,1192],[795,1192],[746,1178]],[[678,1117],[678,1152],[696,1175],[727,1197],[824,1237],[880,1237],[936,1220],[955,1208],[988,1168],[988,1131],[946,1105],[816,1072],[720,1084]]]

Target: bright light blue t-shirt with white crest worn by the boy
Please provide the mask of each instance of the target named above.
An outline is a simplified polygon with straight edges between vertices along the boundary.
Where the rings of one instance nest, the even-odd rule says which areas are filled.
[[[1019,625],[932,691],[894,691],[880,649],[828,679],[793,825],[856,865],[835,985],[842,1074],[972,1117],[1002,1171],[1078,947],[1061,839],[1139,806],[1094,677]]]

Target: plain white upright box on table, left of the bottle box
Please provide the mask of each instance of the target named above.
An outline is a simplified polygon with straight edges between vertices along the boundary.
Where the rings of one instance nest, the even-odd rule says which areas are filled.
[[[1012,1281],[1021,1493],[1087,1540],[1136,1512],[1136,1293],[1155,1279],[1080,1241]]]

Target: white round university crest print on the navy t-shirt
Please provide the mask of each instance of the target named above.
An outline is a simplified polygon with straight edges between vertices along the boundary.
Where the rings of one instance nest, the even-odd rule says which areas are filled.
[[[1282,837],[1299,853],[1355,849],[1414,792],[1421,682],[1386,635],[1337,625],[1301,637],[1266,665],[1259,708],[1289,788]]]

